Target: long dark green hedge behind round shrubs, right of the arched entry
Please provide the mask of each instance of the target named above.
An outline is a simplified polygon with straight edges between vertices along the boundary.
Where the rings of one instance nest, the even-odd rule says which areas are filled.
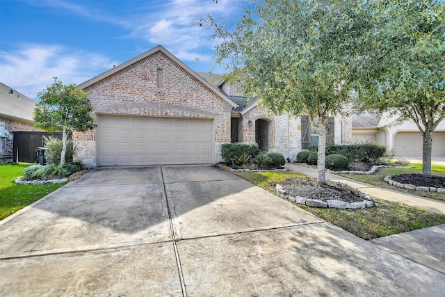
[[[311,152],[317,152],[316,145],[309,145],[307,148]],[[385,145],[375,143],[359,143],[355,145],[326,145],[326,155],[342,154],[350,162],[375,162],[385,156],[387,148]]]

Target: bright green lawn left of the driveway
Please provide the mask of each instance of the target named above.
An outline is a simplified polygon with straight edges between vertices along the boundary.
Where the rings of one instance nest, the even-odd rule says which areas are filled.
[[[0,165],[0,220],[16,211],[56,191],[64,184],[46,184],[42,186],[19,185],[13,179],[22,175],[24,168],[30,164]]]

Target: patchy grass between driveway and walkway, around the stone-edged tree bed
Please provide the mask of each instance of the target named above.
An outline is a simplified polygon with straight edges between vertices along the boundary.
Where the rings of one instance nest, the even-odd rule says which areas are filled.
[[[275,193],[274,184],[288,177],[305,176],[293,171],[235,172],[234,174],[272,193]],[[296,205],[366,240],[445,224],[443,214],[380,199],[375,200],[375,207],[370,209],[330,209]]]

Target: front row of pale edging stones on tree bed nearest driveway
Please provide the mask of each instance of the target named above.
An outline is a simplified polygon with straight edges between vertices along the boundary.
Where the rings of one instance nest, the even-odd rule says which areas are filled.
[[[326,202],[316,199],[308,199],[300,196],[290,196],[285,195],[286,190],[284,190],[283,186],[277,184],[277,194],[280,198],[285,200],[289,200],[290,202],[296,202],[298,204],[307,205],[308,207],[329,207],[329,208],[337,208],[337,209],[364,209],[371,208],[374,205],[374,202],[371,200],[362,200],[361,202],[345,202],[340,200],[326,200]]]

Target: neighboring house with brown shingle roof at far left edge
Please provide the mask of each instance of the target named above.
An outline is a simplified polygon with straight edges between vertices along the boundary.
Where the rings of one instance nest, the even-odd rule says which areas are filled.
[[[15,131],[42,131],[34,127],[36,102],[0,83],[0,163],[12,161]]]

